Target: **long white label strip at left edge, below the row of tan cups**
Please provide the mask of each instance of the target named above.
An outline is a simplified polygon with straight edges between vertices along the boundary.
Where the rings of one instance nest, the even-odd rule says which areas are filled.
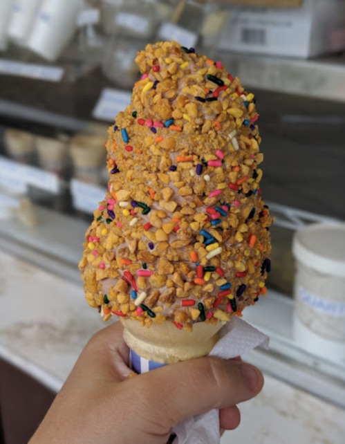
[[[19,181],[19,183],[26,183],[53,194],[59,192],[59,177],[57,174],[46,172],[37,167],[21,165],[13,160],[1,157],[0,173],[2,180],[5,181],[4,185],[7,184],[7,186],[10,181]]]

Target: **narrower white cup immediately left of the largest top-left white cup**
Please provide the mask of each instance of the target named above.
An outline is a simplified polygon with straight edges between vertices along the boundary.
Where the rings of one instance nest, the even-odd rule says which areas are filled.
[[[8,36],[17,43],[26,43],[40,2],[41,0],[15,0],[13,2]]]

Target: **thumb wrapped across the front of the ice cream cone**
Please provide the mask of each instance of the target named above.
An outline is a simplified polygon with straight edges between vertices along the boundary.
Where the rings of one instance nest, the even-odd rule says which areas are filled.
[[[263,387],[263,376],[250,364],[207,357],[144,373],[133,384],[137,394],[133,402],[150,405],[150,415],[172,427],[189,416],[253,398]]]

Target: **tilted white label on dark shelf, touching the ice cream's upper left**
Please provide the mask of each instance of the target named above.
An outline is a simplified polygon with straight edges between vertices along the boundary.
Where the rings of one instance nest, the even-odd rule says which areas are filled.
[[[93,117],[106,122],[114,120],[115,116],[124,111],[131,103],[131,93],[120,89],[104,88],[93,109]]]

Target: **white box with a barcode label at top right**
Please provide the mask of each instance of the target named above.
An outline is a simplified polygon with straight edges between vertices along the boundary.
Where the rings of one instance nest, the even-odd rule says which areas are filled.
[[[302,58],[344,50],[345,1],[304,0],[296,8],[230,6],[218,47]]]

